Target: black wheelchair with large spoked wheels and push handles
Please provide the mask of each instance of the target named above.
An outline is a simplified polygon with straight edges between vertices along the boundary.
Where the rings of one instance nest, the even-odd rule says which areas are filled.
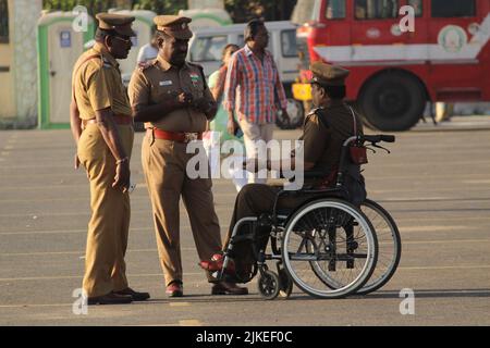
[[[272,213],[237,221],[213,276],[244,284],[258,274],[265,299],[287,298],[293,283],[310,296],[329,299],[365,295],[387,284],[401,257],[396,224],[375,201],[365,199],[355,206],[344,183],[352,146],[384,149],[378,142],[394,140],[388,135],[348,138],[334,187],[281,190]],[[305,178],[323,177],[324,173],[305,173]],[[287,195],[308,198],[294,209],[279,210],[279,199]],[[267,261],[275,261],[277,272]]]

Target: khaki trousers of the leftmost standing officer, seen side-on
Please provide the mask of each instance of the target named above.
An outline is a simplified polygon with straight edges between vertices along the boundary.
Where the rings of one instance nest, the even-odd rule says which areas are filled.
[[[124,150],[130,156],[133,126],[118,127]],[[128,286],[124,256],[130,231],[130,195],[112,188],[115,159],[97,124],[88,124],[82,133],[78,159],[88,173],[91,208],[83,288],[88,297],[103,296]]]

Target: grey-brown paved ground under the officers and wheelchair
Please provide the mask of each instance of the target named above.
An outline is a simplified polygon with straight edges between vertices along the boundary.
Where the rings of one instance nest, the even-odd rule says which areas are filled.
[[[483,120],[483,119],[481,119]],[[455,120],[454,122],[456,122]],[[397,135],[392,154],[370,156],[369,195],[395,217],[403,238],[400,269],[366,297],[318,300],[294,289],[289,300],[264,301],[249,284],[245,297],[211,297],[198,269],[185,212],[181,214],[186,297],[164,296],[150,204],[139,162],[132,169],[128,278],[151,301],[72,312],[81,286],[88,187],[72,170],[68,130],[0,133],[0,324],[2,325],[489,325],[490,129],[452,126]],[[466,121],[464,121],[466,122]],[[483,122],[483,123],[485,123]],[[485,129],[487,128],[487,129]],[[427,129],[426,129],[427,130]],[[294,138],[298,132],[277,132]],[[223,232],[235,198],[215,183]],[[415,290],[415,315],[400,313],[402,288]]]

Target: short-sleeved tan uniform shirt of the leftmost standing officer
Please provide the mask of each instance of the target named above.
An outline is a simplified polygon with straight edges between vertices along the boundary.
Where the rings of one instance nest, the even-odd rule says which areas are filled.
[[[90,55],[98,57],[85,61]],[[72,84],[82,120],[95,119],[96,111],[107,108],[111,108],[114,115],[131,116],[130,100],[121,79],[119,64],[100,44],[96,44],[78,58],[73,70]]]

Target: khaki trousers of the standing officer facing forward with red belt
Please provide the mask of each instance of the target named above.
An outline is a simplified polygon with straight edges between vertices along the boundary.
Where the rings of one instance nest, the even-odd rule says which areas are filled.
[[[221,250],[221,235],[210,178],[186,175],[186,144],[145,136],[143,170],[151,199],[158,253],[166,284],[183,281],[179,202],[182,195],[200,260],[210,260]],[[204,148],[200,149],[204,151]],[[204,153],[204,152],[203,152]],[[208,170],[209,172],[209,170]],[[208,275],[208,279],[212,278]]]

